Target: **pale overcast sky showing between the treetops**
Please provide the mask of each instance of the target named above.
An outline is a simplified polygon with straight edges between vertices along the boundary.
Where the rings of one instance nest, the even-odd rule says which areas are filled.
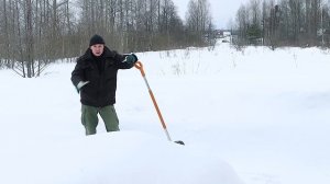
[[[241,4],[246,4],[250,0],[208,0],[211,7],[213,23],[217,28],[228,26],[230,19],[234,21],[237,11]],[[173,0],[178,9],[178,14],[183,20],[186,18],[189,0]]]

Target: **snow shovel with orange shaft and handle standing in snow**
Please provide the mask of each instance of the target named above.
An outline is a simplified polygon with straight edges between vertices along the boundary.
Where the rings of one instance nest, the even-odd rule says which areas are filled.
[[[143,70],[143,65],[142,65],[142,62],[141,62],[141,61],[136,61],[136,62],[135,62],[135,68],[138,68],[138,69],[141,71],[141,74],[142,74],[142,77],[143,77],[143,79],[144,79],[144,82],[145,82],[145,84],[146,84],[146,88],[147,88],[147,90],[148,90],[148,94],[150,94],[150,96],[151,96],[151,99],[152,99],[152,101],[153,101],[153,104],[154,104],[154,106],[155,106],[155,108],[156,108],[156,112],[157,112],[157,114],[158,114],[160,120],[161,120],[161,123],[162,123],[163,129],[164,129],[164,131],[165,131],[165,134],[166,134],[167,140],[168,140],[168,141],[172,141],[172,139],[170,139],[170,137],[169,137],[169,134],[168,134],[168,131],[167,131],[167,128],[166,128],[165,120],[164,120],[164,118],[163,118],[163,116],[162,116],[162,113],[161,113],[161,111],[160,111],[160,107],[158,107],[158,105],[157,105],[156,99],[155,99],[155,96],[154,96],[154,94],[153,94],[153,91],[151,90],[151,88],[150,88],[150,85],[148,85],[148,82],[147,82],[147,80],[146,80],[146,78],[145,78],[145,72],[144,72],[144,70]],[[177,140],[177,141],[174,141],[174,142],[179,143],[179,145],[185,145],[185,142],[182,141],[182,140]]]

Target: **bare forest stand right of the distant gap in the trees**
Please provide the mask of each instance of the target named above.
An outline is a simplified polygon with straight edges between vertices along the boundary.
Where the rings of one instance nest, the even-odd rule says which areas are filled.
[[[239,45],[329,47],[329,13],[326,0],[250,0],[231,26]]]

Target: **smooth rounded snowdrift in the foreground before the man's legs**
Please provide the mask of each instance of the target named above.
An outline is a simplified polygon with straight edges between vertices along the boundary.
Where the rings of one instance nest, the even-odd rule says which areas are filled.
[[[1,153],[3,183],[241,183],[220,157],[140,131],[103,133],[66,142],[26,138],[20,146],[7,145],[6,156]]]

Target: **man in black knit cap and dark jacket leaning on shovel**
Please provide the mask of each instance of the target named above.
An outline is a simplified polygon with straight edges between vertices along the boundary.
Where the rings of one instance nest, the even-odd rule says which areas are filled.
[[[81,123],[86,135],[95,135],[98,114],[102,117],[107,131],[118,131],[119,120],[116,103],[117,73],[119,69],[130,69],[138,61],[134,54],[120,55],[105,45],[105,39],[94,35],[89,48],[77,59],[72,72],[72,81],[81,102]]]

